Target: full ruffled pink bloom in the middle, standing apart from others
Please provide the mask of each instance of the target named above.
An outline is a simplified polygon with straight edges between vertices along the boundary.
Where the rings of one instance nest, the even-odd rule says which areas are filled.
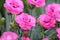
[[[15,18],[15,21],[23,30],[30,30],[36,24],[36,19],[33,16],[28,15],[27,13],[22,13],[21,15],[18,15]]]

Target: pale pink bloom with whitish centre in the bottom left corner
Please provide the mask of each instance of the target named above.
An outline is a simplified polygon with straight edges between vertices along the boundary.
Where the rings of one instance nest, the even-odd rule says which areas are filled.
[[[14,32],[4,32],[1,40],[17,40],[18,35]]]

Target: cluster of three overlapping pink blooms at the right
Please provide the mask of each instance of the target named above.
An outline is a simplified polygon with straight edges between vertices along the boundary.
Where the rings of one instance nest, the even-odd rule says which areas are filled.
[[[60,4],[52,3],[46,7],[46,14],[39,16],[39,23],[45,28],[50,29],[56,26],[56,21],[60,22]]]

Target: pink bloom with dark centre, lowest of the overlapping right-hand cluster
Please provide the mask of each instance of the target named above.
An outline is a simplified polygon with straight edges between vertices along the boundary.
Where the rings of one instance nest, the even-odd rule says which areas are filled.
[[[52,27],[55,27],[54,18],[52,18],[46,14],[40,15],[38,18],[38,21],[45,29],[50,29]]]

